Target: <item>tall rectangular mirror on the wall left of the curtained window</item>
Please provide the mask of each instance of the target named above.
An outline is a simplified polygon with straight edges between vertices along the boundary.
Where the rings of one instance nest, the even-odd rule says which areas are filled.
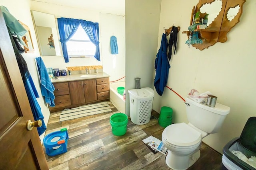
[[[42,56],[61,55],[55,17],[38,11],[32,11],[36,37]]]

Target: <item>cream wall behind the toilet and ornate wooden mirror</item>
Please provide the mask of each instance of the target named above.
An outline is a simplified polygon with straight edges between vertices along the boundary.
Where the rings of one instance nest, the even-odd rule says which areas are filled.
[[[222,152],[228,141],[240,136],[247,119],[256,116],[256,1],[244,3],[240,22],[228,33],[228,41],[202,51],[194,47],[189,49],[185,44],[188,37],[182,34],[188,30],[191,10],[197,3],[198,0],[162,0],[158,49],[163,27],[180,26],[178,47],[170,62],[167,85],[183,98],[191,89],[200,93],[209,90],[218,97],[218,103],[230,107],[221,130],[203,139],[210,147]],[[154,98],[153,109],[160,113],[162,106],[172,107],[174,123],[188,122],[184,102],[167,88],[162,96]]]

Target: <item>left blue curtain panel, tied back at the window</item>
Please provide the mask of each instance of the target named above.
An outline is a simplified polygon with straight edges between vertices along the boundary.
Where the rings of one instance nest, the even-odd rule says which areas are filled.
[[[58,27],[60,33],[60,42],[63,51],[63,57],[65,62],[68,63],[68,51],[66,43],[68,40],[74,35],[78,26],[80,25],[80,21],[72,18],[58,18]]]

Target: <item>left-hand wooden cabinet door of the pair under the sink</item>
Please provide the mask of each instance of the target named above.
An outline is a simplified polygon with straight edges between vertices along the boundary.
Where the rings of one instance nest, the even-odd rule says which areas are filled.
[[[85,103],[83,81],[69,82],[68,88],[72,105]]]

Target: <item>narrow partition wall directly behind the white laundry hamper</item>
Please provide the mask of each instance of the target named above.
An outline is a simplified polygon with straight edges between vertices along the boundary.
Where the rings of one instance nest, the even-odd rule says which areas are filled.
[[[158,43],[161,0],[129,0],[125,2],[126,29],[126,94],[135,88],[134,78],[140,77],[141,87],[153,88],[154,61]],[[126,114],[130,115],[129,95]]]

